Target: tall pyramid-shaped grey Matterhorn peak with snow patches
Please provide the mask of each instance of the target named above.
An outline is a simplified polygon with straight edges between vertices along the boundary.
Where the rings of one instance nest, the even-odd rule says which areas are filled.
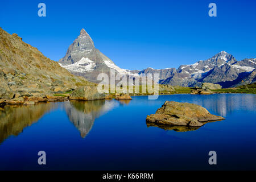
[[[66,55],[59,60],[61,67],[74,75],[83,76],[89,81],[99,82],[100,73],[110,75],[110,68],[122,75],[136,75],[127,69],[121,69],[108,57],[94,47],[90,35],[82,28],[80,35],[69,46]]]

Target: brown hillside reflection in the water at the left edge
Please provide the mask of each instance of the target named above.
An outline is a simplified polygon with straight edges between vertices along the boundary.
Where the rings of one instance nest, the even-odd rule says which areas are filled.
[[[37,122],[47,111],[53,109],[54,105],[54,103],[6,105],[0,110],[0,143],[11,135],[18,136],[24,127]]]

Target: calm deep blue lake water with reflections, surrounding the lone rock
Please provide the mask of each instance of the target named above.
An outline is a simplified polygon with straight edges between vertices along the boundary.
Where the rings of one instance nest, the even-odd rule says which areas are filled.
[[[0,110],[0,169],[256,169],[256,95],[177,94],[130,102],[56,102]],[[164,101],[190,102],[226,119],[194,131],[147,127]],[[38,151],[47,165],[38,165]],[[208,152],[217,152],[217,165]]]

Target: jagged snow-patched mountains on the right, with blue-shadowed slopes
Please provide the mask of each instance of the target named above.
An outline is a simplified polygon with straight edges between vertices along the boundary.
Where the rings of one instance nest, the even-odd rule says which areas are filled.
[[[243,84],[243,80],[246,80],[255,68],[256,59],[237,61],[234,56],[221,51],[208,60],[201,60],[192,65],[181,65],[177,73],[159,83],[200,86],[203,82],[211,82],[228,88]],[[254,81],[255,78],[251,80],[251,82]]]

